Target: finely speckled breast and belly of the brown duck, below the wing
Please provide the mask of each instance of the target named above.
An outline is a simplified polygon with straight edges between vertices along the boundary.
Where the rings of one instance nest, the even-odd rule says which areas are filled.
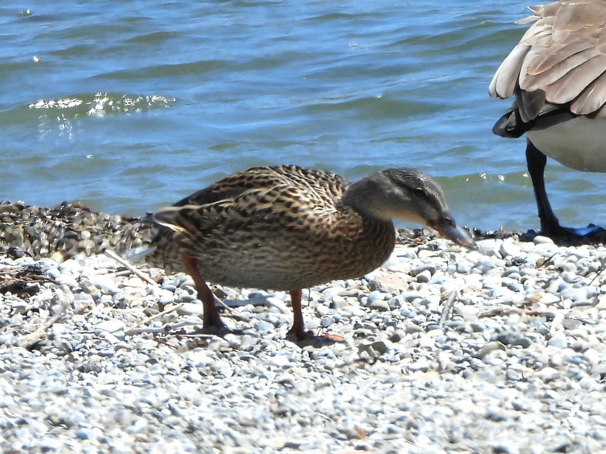
[[[391,222],[368,223],[357,234],[318,235],[309,229],[239,232],[238,238],[202,241],[188,251],[210,282],[235,287],[293,290],[335,279],[362,277],[381,266],[395,246]],[[342,228],[342,226],[340,226]],[[345,232],[346,233],[346,232]]]

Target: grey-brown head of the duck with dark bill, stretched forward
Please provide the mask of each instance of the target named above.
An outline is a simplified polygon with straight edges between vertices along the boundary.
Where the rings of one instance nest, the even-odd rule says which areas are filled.
[[[344,202],[379,219],[427,225],[458,245],[477,247],[454,222],[438,183],[418,170],[387,169],[365,177],[350,186]]]

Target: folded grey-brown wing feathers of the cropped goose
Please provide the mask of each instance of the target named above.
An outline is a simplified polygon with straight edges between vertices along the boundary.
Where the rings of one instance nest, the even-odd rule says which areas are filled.
[[[548,105],[606,117],[606,0],[560,0],[530,7],[533,22],[494,74],[491,96],[516,94],[529,122]]]

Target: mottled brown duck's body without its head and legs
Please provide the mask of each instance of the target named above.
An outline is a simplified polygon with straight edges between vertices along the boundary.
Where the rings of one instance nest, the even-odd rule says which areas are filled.
[[[359,277],[388,257],[395,231],[343,206],[348,186],[297,166],[234,174],[154,215],[170,228],[148,262],[176,271],[185,253],[210,282],[275,290]]]

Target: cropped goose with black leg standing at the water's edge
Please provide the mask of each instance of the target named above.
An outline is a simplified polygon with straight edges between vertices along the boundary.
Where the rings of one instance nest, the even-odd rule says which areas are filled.
[[[530,7],[534,22],[494,74],[488,91],[514,95],[496,122],[503,137],[526,134],[526,160],[541,233],[574,239],[600,228],[560,226],[545,192],[547,157],[584,172],[606,172],[606,1],[559,0]]]

